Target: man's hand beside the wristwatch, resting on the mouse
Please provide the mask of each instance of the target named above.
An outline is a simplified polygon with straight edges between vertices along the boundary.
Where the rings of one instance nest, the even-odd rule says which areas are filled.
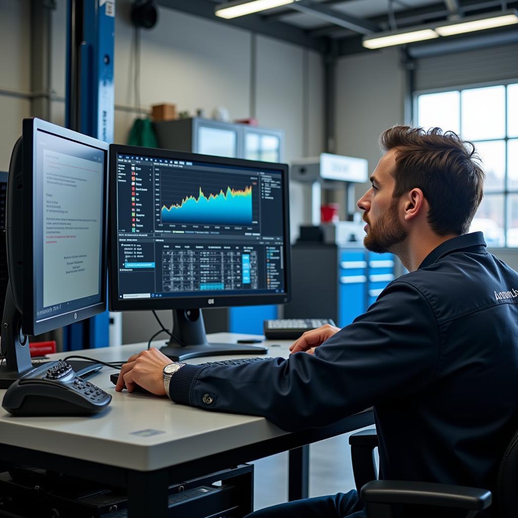
[[[126,384],[128,392],[133,392],[137,384],[153,394],[164,396],[162,371],[170,363],[170,358],[155,348],[134,354],[122,366],[115,390],[121,392]]]

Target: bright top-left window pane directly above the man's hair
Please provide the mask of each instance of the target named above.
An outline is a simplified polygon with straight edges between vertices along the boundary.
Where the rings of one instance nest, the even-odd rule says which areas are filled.
[[[459,99],[459,92],[420,95],[418,97],[418,126],[424,127],[425,130],[438,126],[443,131],[460,133]]]

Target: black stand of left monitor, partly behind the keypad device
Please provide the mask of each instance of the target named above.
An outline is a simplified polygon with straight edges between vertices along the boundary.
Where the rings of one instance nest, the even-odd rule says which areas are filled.
[[[22,332],[22,315],[12,297],[11,285],[7,284],[7,293],[2,319],[2,341],[0,349],[5,359],[0,365],[0,389],[8,389],[17,379],[32,368],[45,362],[31,362],[31,352],[27,335]],[[87,377],[103,366],[87,361],[68,362],[80,377]]]

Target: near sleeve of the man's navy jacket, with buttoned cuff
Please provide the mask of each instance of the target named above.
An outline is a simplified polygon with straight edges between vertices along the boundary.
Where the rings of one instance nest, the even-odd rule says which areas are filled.
[[[433,379],[439,354],[439,328],[428,301],[411,284],[396,280],[314,355],[186,365],[173,376],[169,393],[185,405],[261,415],[296,431],[415,394]]]

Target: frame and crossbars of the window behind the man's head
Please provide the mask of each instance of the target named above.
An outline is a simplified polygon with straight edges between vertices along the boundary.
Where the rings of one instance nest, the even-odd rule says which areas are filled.
[[[509,195],[517,194],[518,195],[518,187],[516,189],[509,189],[508,186],[508,141],[509,140],[515,140],[518,139],[518,136],[516,137],[509,137],[508,135],[508,89],[507,87],[510,84],[518,83],[518,77],[514,79],[506,79],[506,80],[500,80],[500,81],[486,81],[482,83],[471,83],[471,84],[462,84],[462,85],[456,85],[451,87],[443,87],[443,88],[431,88],[427,90],[413,90],[412,91],[412,120],[417,121],[419,120],[419,97],[421,95],[427,95],[427,94],[436,94],[436,93],[443,93],[443,92],[459,92],[459,110],[458,110],[458,116],[459,116],[459,124],[458,127],[461,128],[461,137],[462,137],[462,91],[463,90],[472,90],[477,88],[486,88],[486,87],[498,87],[503,86],[505,87],[505,104],[504,104],[504,117],[505,117],[505,136],[503,138],[490,138],[490,139],[483,139],[483,140],[473,140],[475,146],[477,146],[477,142],[497,142],[502,141],[504,142],[504,163],[505,163],[505,176],[503,178],[503,190],[501,191],[491,191],[487,194],[502,194],[503,195],[503,236],[504,236],[504,246],[503,247],[491,247],[494,250],[506,250],[506,251],[516,251],[518,252],[518,247],[508,247],[507,246],[507,231],[508,231],[508,199]],[[442,128],[443,130],[446,128]],[[485,196],[485,190],[484,190],[484,196]]]

